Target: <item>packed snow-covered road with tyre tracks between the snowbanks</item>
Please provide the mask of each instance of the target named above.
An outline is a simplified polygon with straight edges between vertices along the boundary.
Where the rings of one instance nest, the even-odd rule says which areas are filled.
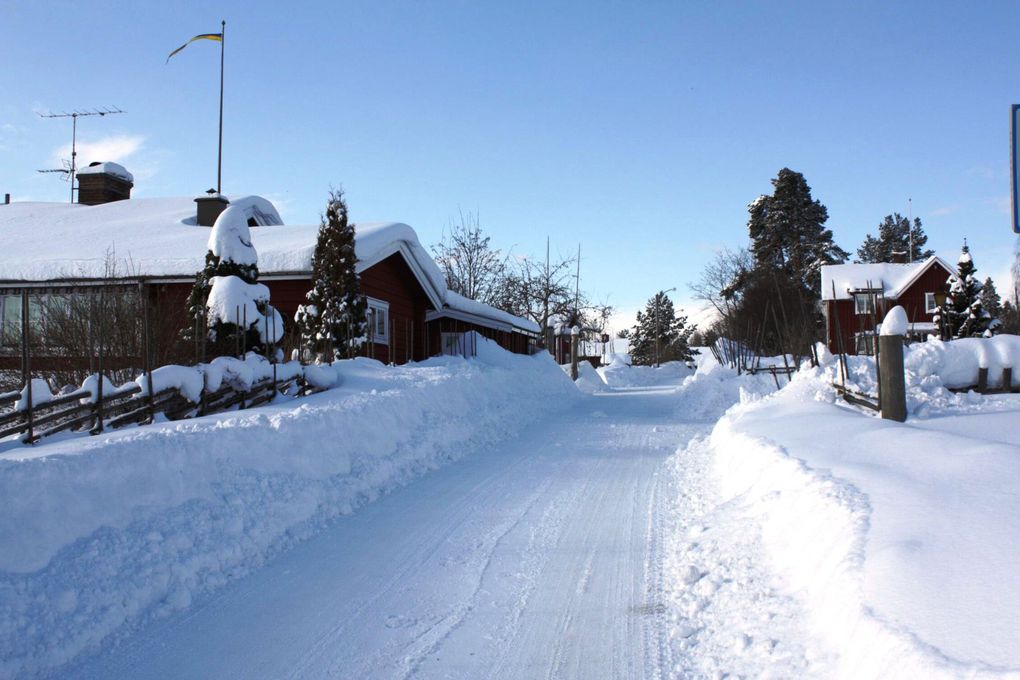
[[[86,677],[670,675],[663,463],[709,424],[610,391],[343,518]],[[660,673],[662,672],[662,673]]]

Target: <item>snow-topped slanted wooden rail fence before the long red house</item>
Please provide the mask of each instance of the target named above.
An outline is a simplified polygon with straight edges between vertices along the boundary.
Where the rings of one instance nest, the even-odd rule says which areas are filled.
[[[244,359],[217,357],[194,367],[161,366],[120,386],[93,374],[80,388],[59,395],[50,393],[45,380],[33,378],[21,390],[0,395],[0,439],[20,435],[22,443],[35,443],[68,430],[99,434],[151,423],[158,414],[180,420],[247,409],[279,394],[301,397],[337,382],[332,366],[276,364],[251,352]]]

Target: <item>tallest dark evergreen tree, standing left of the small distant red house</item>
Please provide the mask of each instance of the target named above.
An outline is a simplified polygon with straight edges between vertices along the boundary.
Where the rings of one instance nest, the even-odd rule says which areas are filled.
[[[832,242],[832,231],[824,226],[828,211],[811,197],[803,174],[784,167],[772,186],[771,196],[748,206],[755,267],[781,270],[818,300],[821,266],[845,262],[848,253]]]

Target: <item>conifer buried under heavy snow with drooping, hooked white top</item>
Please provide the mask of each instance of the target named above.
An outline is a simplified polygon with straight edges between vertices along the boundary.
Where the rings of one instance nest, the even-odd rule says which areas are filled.
[[[205,268],[188,298],[193,328],[204,328],[206,356],[264,352],[284,335],[284,319],[269,304],[269,289],[258,281],[258,254],[240,207],[228,206],[209,233]]]

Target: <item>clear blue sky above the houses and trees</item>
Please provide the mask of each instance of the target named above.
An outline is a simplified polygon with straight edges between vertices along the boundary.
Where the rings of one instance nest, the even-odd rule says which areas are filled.
[[[657,290],[747,241],[747,205],[786,166],[855,251],[908,198],[929,246],[1006,284],[1009,107],[1020,4],[903,2],[123,3],[0,0],[0,193],[65,200],[80,160],[135,196],[215,186],[226,27],[223,191],[317,221],[343,186],[356,220],[437,242],[460,210],[495,245],[564,255],[626,323]],[[94,157],[90,157],[94,156]]]

